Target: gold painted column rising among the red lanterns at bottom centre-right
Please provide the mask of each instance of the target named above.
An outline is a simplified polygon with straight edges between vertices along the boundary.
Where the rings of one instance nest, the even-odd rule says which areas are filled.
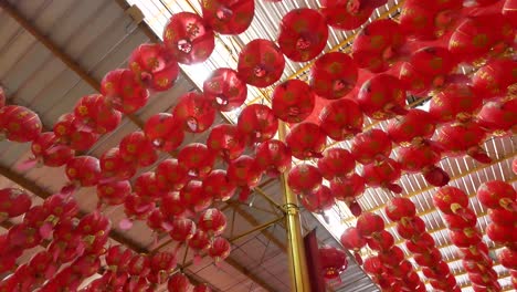
[[[285,142],[286,125],[279,122],[278,138]],[[291,270],[291,291],[309,292],[307,261],[305,257],[304,236],[302,232],[298,198],[287,185],[287,174],[282,174],[282,187],[284,190],[285,218],[287,231],[287,257]]]

